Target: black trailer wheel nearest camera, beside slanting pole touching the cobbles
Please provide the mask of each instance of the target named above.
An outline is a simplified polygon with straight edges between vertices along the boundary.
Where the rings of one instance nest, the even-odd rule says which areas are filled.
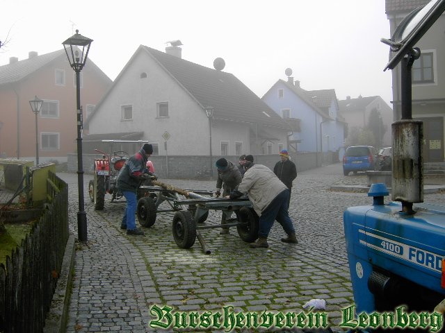
[[[179,248],[191,248],[196,239],[196,223],[187,210],[179,210],[173,216],[173,237]]]

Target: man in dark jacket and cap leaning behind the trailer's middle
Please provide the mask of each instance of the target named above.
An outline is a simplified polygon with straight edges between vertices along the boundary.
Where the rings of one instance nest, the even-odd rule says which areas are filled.
[[[228,196],[231,191],[236,189],[238,184],[241,182],[241,173],[238,168],[230,161],[227,161],[224,157],[220,158],[215,163],[216,169],[218,170],[218,179],[216,180],[216,191],[215,196],[221,195],[221,187],[223,187],[223,196]],[[221,224],[227,223],[225,221],[225,215],[221,219]],[[229,228],[224,228],[221,230],[220,234],[228,234]]]

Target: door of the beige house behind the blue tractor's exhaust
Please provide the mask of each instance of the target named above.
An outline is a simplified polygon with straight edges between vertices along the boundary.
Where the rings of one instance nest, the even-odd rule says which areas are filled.
[[[419,118],[423,121],[423,162],[444,162],[444,118]]]

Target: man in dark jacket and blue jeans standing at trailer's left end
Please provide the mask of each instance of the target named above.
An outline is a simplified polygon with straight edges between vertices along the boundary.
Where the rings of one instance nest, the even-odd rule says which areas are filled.
[[[120,224],[121,229],[127,229],[127,234],[143,235],[143,230],[136,228],[136,193],[138,191],[141,180],[151,176],[146,165],[147,160],[153,153],[151,144],[144,144],[138,153],[131,156],[118,175],[118,189],[127,199],[127,207],[125,207],[124,216]]]

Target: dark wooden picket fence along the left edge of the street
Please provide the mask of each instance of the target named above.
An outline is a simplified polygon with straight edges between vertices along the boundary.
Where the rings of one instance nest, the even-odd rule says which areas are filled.
[[[68,230],[68,187],[54,173],[48,204],[31,232],[0,264],[0,332],[42,332],[63,261]]]

